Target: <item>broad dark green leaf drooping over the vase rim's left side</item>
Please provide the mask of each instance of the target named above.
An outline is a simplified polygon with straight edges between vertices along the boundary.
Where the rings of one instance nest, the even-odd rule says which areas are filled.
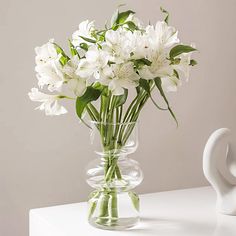
[[[84,95],[77,97],[76,99],[76,113],[77,116],[83,121],[82,114],[88,103],[95,101],[101,95],[101,91],[93,88],[92,86],[87,87]]]

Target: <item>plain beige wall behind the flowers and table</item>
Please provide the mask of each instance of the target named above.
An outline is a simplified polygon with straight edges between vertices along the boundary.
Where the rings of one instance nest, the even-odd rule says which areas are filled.
[[[195,42],[199,65],[170,100],[180,121],[149,103],[133,156],[145,180],[139,192],[206,185],[202,151],[210,132],[236,131],[236,1],[122,1],[145,21],[171,12],[181,39]],[[1,0],[0,7],[0,235],[28,234],[30,208],[84,201],[83,168],[94,158],[88,130],[74,114],[46,117],[33,111],[27,92],[36,85],[34,47],[66,39],[84,19],[102,25],[120,1]],[[97,5],[99,4],[99,6]]]

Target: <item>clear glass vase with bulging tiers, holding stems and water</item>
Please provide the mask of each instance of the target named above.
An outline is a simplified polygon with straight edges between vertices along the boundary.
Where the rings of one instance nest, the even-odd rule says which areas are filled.
[[[88,220],[95,227],[120,230],[139,221],[139,197],[133,189],[143,180],[137,161],[129,158],[138,147],[138,124],[91,124],[91,144],[98,158],[86,169],[95,190],[88,200]]]

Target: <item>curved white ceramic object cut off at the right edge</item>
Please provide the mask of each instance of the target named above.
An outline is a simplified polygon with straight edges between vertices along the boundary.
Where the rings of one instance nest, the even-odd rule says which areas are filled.
[[[236,161],[230,148],[230,130],[221,128],[209,137],[203,153],[203,172],[217,194],[217,210],[226,215],[236,215],[236,185],[222,174],[219,159],[224,158],[227,174],[236,178]],[[219,155],[220,150],[224,153]],[[223,156],[222,156],[223,155]]]

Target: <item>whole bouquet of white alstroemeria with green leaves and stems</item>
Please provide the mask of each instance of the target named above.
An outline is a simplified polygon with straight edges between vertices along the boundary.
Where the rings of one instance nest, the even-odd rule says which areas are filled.
[[[41,102],[36,109],[44,110],[46,115],[61,115],[67,110],[60,101],[74,100],[79,119],[91,127],[84,119],[84,114],[88,114],[99,131],[107,162],[102,190],[96,191],[92,199],[94,203],[102,191],[106,192],[101,200],[100,221],[97,221],[100,224],[112,226],[118,222],[114,207],[117,188],[112,185],[115,180],[122,180],[117,157],[142,108],[150,99],[176,120],[165,94],[176,91],[184,79],[188,80],[190,67],[196,65],[191,59],[196,49],[180,43],[178,31],[168,24],[168,12],[161,10],[165,19],[155,25],[143,25],[131,10],[115,11],[110,25],[103,29],[97,29],[94,21],[83,21],[69,40],[70,55],[53,39],[35,49],[38,86],[53,93],[32,88],[30,99]],[[130,90],[136,92],[127,99]],[[163,98],[165,107],[154,100],[155,90]],[[110,124],[117,126],[111,128]],[[120,124],[131,125],[126,128]],[[131,198],[137,203],[135,194]],[[113,206],[110,211],[109,206]],[[92,204],[90,216],[94,209]]]

